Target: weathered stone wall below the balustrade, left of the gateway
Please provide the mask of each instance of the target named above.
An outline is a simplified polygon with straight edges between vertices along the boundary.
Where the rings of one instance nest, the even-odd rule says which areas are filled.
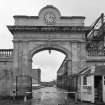
[[[13,76],[11,61],[0,59],[0,96],[9,96],[11,90],[11,80]]]

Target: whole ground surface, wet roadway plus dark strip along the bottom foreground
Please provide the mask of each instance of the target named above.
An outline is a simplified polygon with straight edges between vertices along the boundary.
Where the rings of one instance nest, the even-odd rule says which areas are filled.
[[[0,105],[93,105],[91,103],[75,103],[73,99],[67,97],[63,89],[56,87],[44,87],[33,90],[33,99],[30,100],[0,100]],[[95,104],[96,105],[96,104]],[[101,105],[101,104],[97,104]],[[104,105],[104,104],[103,104]]]

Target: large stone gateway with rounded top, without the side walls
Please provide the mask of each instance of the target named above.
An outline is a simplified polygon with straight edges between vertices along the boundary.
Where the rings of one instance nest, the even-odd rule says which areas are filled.
[[[68,60],[68,75],[80,71],[81,64],[86,61],[85,17],[61,16],[58,9],[46,6],[39,16],[14,16],[14,19],[15,25],[8,26],[14,44],[12,88],[16,88],[17,76],[31,77],[32,57],[42,50],[64,53]]]

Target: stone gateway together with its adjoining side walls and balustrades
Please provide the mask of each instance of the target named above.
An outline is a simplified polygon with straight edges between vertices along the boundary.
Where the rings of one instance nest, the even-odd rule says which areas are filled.
[[[42,50],[54,49],[66,55],[68,77],[80,72],[84,65],[104,64],[105,54],[102,53],[102,49],[93,49],[95,48],[91,44],[93,36],[87,34],[93,28],[84,25],[83,16],[62,16],[56,7],[47,5],[40,10],[38,16],[16,15],[14,20],[13,26],[7,26],[13,35],[14,48],[0,50],[0,72],[2,74],[3,71],[4,75],[7,75],[1,79],[3,81],[0,82],[0,86],[5,88],[0,88],[0,95],[3,92],[10,95],[11,88],[16,89],[18,83],[16,80],[20,76],[23,76],[24,80],[32,77],[32,57]],[[95,36],[97,37],[96,34]],[[100,44],[98,43],[97,46]],[[97,51],[98,53],[95,53]],[[8,85],[5,84],[6,81]],[[28,90],[23,96],[27,91],[30,93],[32,91],[32,81],[28,82]],[[2,85],[3,83],[5,85]],[[25,88],[25,85],[23,87]]]

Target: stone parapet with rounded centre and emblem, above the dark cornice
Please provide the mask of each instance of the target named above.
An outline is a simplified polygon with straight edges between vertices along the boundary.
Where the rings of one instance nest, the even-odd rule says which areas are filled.
[[[38,16],[14,16],[15,25],[21,26],[83,26],[85,17],[61,16],[60,11],[47,5],[39,11]]]

